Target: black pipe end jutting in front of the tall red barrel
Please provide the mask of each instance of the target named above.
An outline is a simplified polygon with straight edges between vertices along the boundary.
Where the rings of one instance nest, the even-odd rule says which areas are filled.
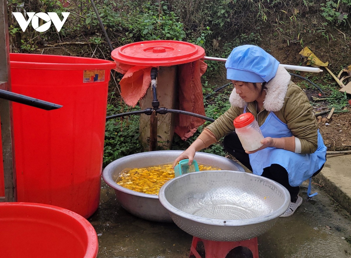
[[[25,104],[31,107],[41,108],[44,110],[53,110],[53,109],[58,109],[62,107],[61,105],[58,105],[58,104],[54,104],[44,100],[34,99],[32,97],[28,97],[25,95],[17,94],[17,93],[7,91],[7,90],[2,90],[2,89],[0,89],[0,98]]]

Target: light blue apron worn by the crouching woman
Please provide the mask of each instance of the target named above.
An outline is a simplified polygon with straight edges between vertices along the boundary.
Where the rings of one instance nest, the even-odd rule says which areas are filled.
[[[246,113],[244,107],[244,113]],[[264,137],[281,138],[290,137],[293,134],[285,123],[272,111],[267,116],[266,121],[260,126]],[[318,130],[318,147],[311,154],[298,154],[289,150],[268,147],[249,154],[250,165],[253,174],[262,175],[263,169],[272,164],[279,164],[286,169],[289,174],[289,184],[299,186],[303,181],[310,178],[310,185],[307,194],[310,194],[311,177],[317,172],[326,161],[326,150],[322,135]],[[313,196],[313,195],[312,195]]]

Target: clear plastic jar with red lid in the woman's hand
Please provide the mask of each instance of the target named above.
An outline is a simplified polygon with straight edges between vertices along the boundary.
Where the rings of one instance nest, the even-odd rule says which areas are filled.
[[[261,140],[264,137],[255,117],[251,113],[239,115],[234,119],[233,123],[244,150],[257,150],[263,145]]]

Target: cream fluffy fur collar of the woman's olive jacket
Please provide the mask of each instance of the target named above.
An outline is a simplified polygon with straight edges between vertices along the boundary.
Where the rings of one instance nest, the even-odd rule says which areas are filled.
[[[290,83],[291,75],[284,67],[279,66],[276,76],[266,84],[266,98],[263,107],[267,111],[279,111],[284,105],[287,87]],[[234,107],[244,108],[246,102],[235,92],[235,88],[230,94],[229,101]]]

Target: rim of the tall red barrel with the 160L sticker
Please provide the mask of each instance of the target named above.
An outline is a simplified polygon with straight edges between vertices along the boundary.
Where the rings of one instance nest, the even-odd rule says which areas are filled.
[[[10,67],[11,69],[111,70],[116,68],[116,63],[78,56],[10,53]]]

